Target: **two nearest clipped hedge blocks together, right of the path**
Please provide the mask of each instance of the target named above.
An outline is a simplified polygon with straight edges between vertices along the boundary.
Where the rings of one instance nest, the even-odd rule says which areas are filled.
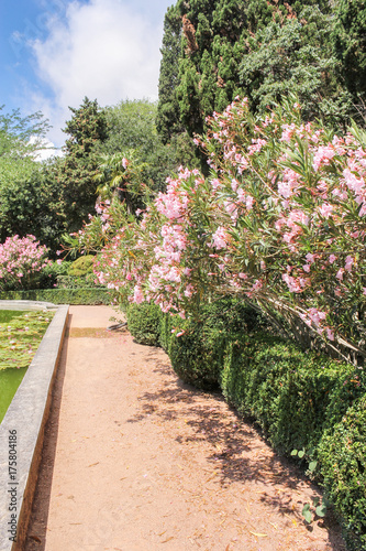
[[[265,333],[226,348],[221,388],[281,453],[304,450],[350,549],[366,549],[366,380],[352,365]]]

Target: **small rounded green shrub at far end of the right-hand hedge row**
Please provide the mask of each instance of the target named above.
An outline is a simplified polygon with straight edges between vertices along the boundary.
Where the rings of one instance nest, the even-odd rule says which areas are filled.
[[[162,311],[156,304],[143,302],[130,304],[124,309],[129,331],[140,344],[159,346]]]

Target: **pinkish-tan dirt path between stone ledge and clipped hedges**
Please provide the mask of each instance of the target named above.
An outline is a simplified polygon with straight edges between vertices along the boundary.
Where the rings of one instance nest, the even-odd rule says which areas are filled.
[[[162,349],[74,306],[26,551],[345,549],[317,495],[219,395],[184,385]]]

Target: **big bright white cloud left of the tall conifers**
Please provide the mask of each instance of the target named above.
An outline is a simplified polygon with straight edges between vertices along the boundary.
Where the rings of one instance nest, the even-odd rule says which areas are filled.
[[[52,141],[64,141],[68,106],[85,96],[101,106],[157,98],[163,19],[154,25],[124,1],[75,1],[64,21],[52,21],[45,40],[32,42],[38,77],[51,90],[33,91],[33,106],[51,119]]]

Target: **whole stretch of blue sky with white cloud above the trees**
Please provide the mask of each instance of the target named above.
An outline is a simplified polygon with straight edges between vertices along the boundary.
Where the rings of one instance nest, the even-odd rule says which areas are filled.
[[[41,110],[60,147],[68,106],[157,98],[171,0],[0,0],[0,106]]]

